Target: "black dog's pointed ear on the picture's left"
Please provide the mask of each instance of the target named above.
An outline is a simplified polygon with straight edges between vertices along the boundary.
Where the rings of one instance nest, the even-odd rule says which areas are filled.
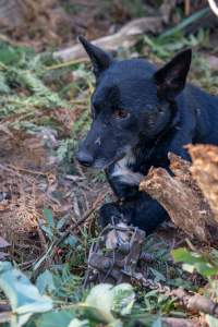
[[[109,53],[101,50],[100,48],[87,41],[87,39],[85,39],[83,36],[78,36],[78,40],[81,41],[85,51],[90,58],[94,68],[94,74],[96,75],[96,77],[98,77],[98,75],[105,70],[107,70],[112,63],[112,57]]]

